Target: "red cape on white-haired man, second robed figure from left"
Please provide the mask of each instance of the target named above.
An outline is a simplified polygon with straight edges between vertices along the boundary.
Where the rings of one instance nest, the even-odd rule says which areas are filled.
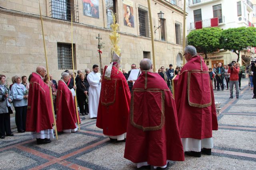
[[[72,92],[65,82],[59,80],[56,99],[57,131],[75,129],[77,118]]]

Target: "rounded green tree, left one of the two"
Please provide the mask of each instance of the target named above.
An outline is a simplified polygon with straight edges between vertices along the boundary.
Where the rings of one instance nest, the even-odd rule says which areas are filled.
[[[188,34],[188,45],[196,47],[197,51],[204,53],[207,59],[207,53],[220,49],[221,32],[222,29],[218,27],[196,29]]]

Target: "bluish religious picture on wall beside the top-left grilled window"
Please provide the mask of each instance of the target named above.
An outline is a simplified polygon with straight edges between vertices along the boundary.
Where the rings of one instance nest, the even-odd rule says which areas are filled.
[[[99,0],[83,0],[83,14],[89,17],[100,18]]]

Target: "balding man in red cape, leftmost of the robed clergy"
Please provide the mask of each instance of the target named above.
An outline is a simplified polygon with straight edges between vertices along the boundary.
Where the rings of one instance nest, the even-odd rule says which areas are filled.
[[[38,66],[32,73],[28,93],[28,109],[26,119],[26,131],[32,132],[37,144],[50,143],[54,138],[52,125],[54,124],[52,103],[49,84],[45,84],[43,78],[46,68]]]

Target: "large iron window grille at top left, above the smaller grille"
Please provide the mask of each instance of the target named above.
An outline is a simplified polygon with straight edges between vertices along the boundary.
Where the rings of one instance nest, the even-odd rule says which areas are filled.
[[[79,22],[77,0],[51,0],[50,9],[52,18],[71,21],[72,14],[73,22]]]

